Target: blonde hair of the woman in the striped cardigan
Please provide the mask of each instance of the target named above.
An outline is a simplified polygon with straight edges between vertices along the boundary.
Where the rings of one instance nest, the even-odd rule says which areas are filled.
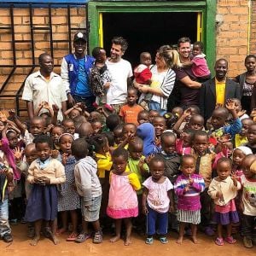
[[[170,45],[162,45],[157,52],[166,62],[166,67],[182,67],[177,50]]]

